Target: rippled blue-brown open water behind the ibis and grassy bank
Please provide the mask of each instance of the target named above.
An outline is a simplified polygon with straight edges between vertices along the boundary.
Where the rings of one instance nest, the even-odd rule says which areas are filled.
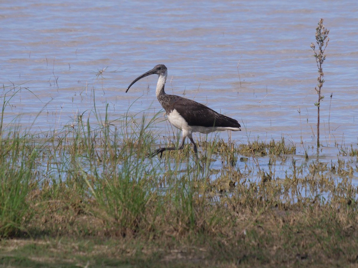
[[[310,44],[324,18],[330,41],[322,154],[337,158],[335,144],[357,147],[356,1],[127,2],[1,1],[1,96],[21,88],[4,122],[34,132],[61,129],[94,109],[93,92],[97,112],[109,103],[113,120],[131,104],[132,114],[148,107],[154,113],[161,109],[155,76],[125,89],[161,63],[169,69],[168,93],[185,93],[242,122],[232,139],[283,135],[303,154],[316,143],[318,73]],[[97,123],[95,116],[90,121]],[[166,124],[158,128],[169,131]]]

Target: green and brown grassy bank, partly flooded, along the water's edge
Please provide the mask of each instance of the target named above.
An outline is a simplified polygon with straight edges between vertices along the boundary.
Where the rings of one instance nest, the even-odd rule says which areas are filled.
[[[46,138],[1,129],[0,264],[357,264],[357,149],[300,162],[285,138],[199,136],[198,170],[189,145],[147,157],[161,120],[82,114]]]

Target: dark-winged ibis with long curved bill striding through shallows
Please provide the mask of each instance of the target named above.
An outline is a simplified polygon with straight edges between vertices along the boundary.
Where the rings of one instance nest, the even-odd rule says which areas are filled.
[[[182,144],[178,148],[159,148],[151,154],[151,157],[154,157],[155,155],[160,153],[161,158],[163,152],[166,150],[183,149],[185,138],[188,137],[190,139],[190,142],[192,142],[194,146],[195,156],[198,160],[198,149],[192,137],[193,132],[210,133],[213,131],[241,130],[240,124],[235,119],[219,114],[216,111],[210,109],[209,107],[197,103],[194,100],[189,100],[176,95],[166,94],[164,92],[164,85],[168,76],[168,70],[163,64],[158,64],[154,66],[154,68],[150,71],[147,71],[146,73],[138,76],[128,86],[126,93],[136,81],[151,74],[158,74],[159,76],[155,94],[161,106],[163,106],[164,110],[166,111],[170,124],[183,131]]]

